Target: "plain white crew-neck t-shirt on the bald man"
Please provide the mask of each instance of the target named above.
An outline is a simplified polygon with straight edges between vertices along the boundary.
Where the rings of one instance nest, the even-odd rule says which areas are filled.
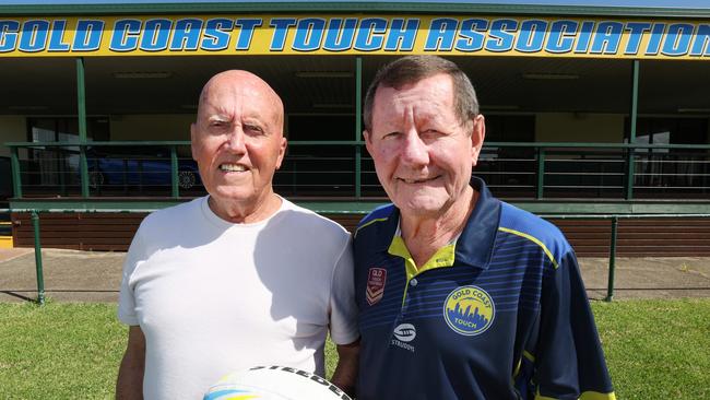
[[[282,199],[265,221],[234,224],[208,197],[149,215],[135,233],[118,316],[146,340],[146,399],[201,399],[255,365],[324,373],[328,329],[357,337],[353,259],[339,224]]]

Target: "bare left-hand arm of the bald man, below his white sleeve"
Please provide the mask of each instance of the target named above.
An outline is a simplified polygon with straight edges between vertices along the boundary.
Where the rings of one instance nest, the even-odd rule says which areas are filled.
[[[131,326],[128,330],[126,354],[118,369],[116,383],[117,400],[143,399],[143,374],[145,372],[145,336],[141,327]]]

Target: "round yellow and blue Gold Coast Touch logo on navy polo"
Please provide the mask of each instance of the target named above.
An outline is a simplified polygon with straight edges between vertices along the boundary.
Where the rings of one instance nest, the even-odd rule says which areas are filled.
[[[449,328],[468,337],[485,332],[495,316],[493,297],[478,286],[457,287],[443,302],[443,319]]]

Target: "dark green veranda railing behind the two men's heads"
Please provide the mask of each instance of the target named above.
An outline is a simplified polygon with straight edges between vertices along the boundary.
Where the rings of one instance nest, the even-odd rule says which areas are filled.
[[[7,145],[15,198],[204,193],[186,141]],[[474,174],[507,199],[707,200],[710,145],[489,142]],[[274,188],[303,198],[386,196],[362,141],[289,142]]]

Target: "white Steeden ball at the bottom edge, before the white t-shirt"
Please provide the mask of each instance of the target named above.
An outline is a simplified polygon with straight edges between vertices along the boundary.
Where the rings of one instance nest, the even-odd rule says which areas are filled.
[[[214,384],[203,400],[352,400],[318,375],[285,366],[255,366]]]

